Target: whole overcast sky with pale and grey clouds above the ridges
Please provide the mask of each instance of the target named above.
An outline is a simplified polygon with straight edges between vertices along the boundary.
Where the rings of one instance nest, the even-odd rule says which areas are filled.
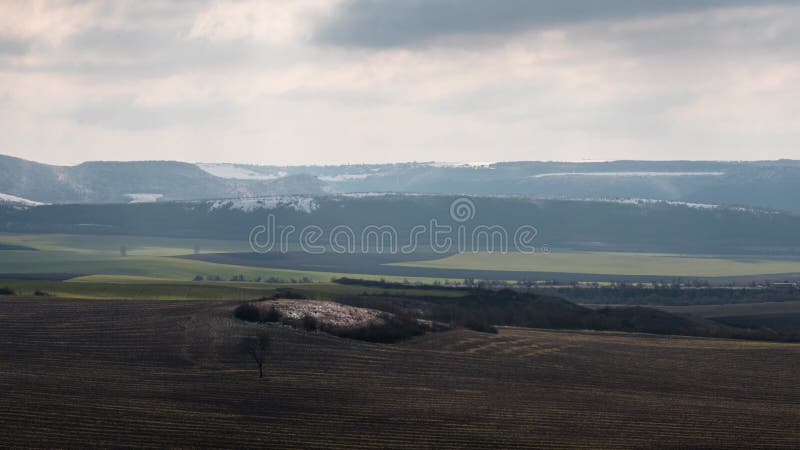
[[[800,159],[800,1],[4,0],[0,153]]]

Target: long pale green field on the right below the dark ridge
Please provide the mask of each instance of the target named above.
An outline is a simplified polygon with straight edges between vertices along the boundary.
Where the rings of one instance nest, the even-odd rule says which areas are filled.
[[[657,253],[460,253],[443,259],[397,263],[433,269],[475,269],[602,275],[733,277],[800,273],[800,261]]]

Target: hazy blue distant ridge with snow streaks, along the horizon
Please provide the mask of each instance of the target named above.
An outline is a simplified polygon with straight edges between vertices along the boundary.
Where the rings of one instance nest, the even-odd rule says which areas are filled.
[[[170,161],[51,166],[0,156],[0,193],[127,203],[357,192],[638,198],[800,213],[800,161],[396,163],[258,166]]]

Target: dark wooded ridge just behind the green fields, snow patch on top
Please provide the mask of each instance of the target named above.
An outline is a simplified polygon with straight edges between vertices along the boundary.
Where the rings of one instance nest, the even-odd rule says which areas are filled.
[[[486,239],[474,238],[479,236],[476,233],[481,227],[484,232],[498,227],[503,230],[511,250],[516,245],[516,231],[524,227],[535,228],[530,245],[540,251],[552,248],[555,251],[769,254],[775,257],[793,256],[800,249],[800,235],[797,234],[800,217],[775,211],[678,202],[471,197],[474,217],[459,223],[450,215],[450,207],[457,199],[448,195],[387,194],[0,206],[0,231],[171,236],[246,243],[254,227],[267,225],[268,216],[272,215],[276,232],[294,227],[285,239],[294,246],[299,244],[303,230],[308,231],[309,227],[318,227],[321,233],[316,238],[317,244],[329,245],[340,226],[347,227],[352,239],[358,241],[353,243],[357,244],[364,242],[359,238],[365,236],[366,230],[375,231],[375,227],[391,225],[398,248],[412,242],[415,227],[426,227],[428,232],[413,238],[417,244],[414,253],[426,249],[430,252],[436,247],[432,245],[435,239],[429,232],[434,226],[449,227],[443,229],[450,230],[448,236],[452,244],[435,253],[488,249]],[[470,248],[457,248],[461,227],[463,242]],[[373,239],[365,248],[376,243]]]

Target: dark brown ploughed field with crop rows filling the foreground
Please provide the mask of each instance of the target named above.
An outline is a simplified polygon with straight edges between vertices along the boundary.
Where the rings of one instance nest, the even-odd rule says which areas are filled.
[[[370,344],[236,303],[0,300],[0,447],[800,447],[800,345],[502,328]],[[267,378],[234,351],[267,329]]]

